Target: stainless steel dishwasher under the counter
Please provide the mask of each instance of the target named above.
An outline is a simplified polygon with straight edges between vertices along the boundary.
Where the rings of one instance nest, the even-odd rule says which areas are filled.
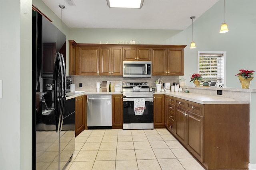
[[[112,128],[112,96],[87,96],[87,127],[88,129]]]

